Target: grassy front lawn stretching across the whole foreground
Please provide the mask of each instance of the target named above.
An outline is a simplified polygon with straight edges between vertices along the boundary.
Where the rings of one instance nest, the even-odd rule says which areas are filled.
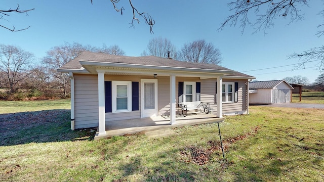
[[[2,181],[324,181],[320,109],[252,106],[250,115],[226,117],[220,123],[225,161],[215,123],[175,128],[163,138],[133,134],[94,141],[90,129],[69,129],[68,110],[55,109],[62,112],[52,121],[33,122],[29,133],[20,126],[2,143]],[[15,128],[0,130],[10,134]],[[36,136],[42,133],[45,140]]]

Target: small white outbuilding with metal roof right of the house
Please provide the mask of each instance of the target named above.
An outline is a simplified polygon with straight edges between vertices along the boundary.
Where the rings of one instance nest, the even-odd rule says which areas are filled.
[[[250,104],[290,103],[291,89],[285,80],[252,81],[249,85]]]

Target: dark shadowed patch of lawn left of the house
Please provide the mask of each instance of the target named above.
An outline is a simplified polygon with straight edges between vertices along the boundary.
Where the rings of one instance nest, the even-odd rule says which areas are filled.
[[[70,129],[70,110],[0,114],[0,146],[93,140],[96,129]]]

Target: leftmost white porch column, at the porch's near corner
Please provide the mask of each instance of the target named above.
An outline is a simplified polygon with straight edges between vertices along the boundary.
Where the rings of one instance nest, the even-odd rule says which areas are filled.
[[[105,71],[98,71],[98,109],[99,109],[99,133],[98,136],[106,134],[105,116]]]

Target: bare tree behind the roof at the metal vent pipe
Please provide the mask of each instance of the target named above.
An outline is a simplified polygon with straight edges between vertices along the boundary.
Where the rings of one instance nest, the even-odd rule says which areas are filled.
[[[142,56],[157,56],[162,58],[168,57],[168,52],[170,51],[170,57],[177,59],[178,53],[175,45],[171,43],[167,38],[152,38],[147,44],[147,50],[142,53]]]

